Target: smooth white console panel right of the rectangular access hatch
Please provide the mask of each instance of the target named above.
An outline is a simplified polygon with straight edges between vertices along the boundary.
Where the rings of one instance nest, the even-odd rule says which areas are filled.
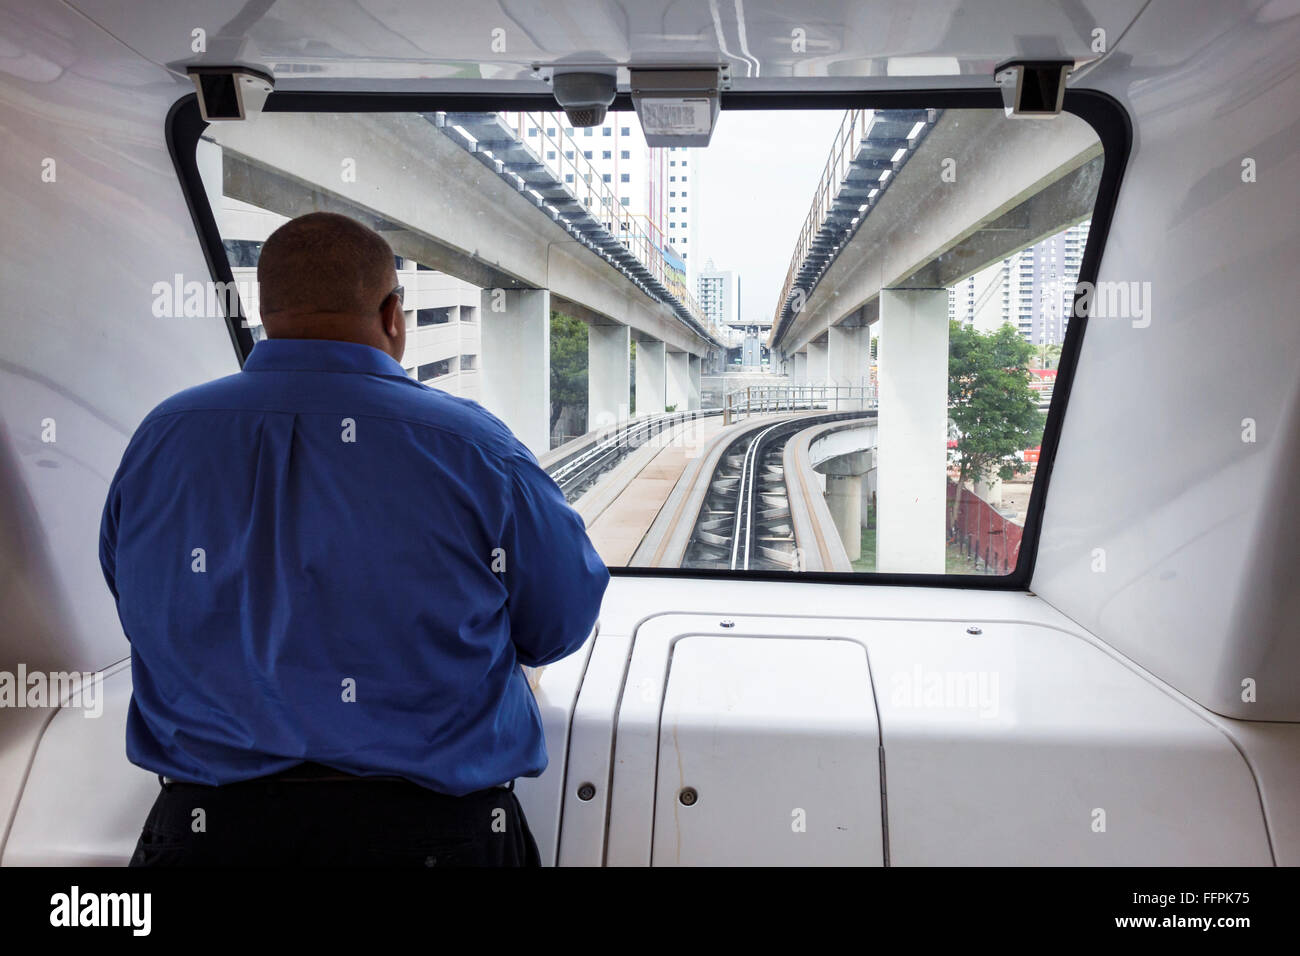
[[[1101,650],[1020,623],[871,635],[892,865],[1271,862],[1232,741]]]

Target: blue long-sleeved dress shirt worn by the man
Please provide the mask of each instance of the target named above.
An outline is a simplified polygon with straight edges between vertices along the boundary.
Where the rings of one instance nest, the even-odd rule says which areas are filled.
[[[577,650],[610,576],[498,419],[318,339],[259,342],[150,412],[100,563],[133,763],[225,784],[316,761],[454,795],[546,767],[520,663]]]

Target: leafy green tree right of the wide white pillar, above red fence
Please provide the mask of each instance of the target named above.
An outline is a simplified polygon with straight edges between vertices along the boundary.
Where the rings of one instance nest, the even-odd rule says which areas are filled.
[[[1030,470],[1018,451],[1041,441],[1045,418],[1030,389],[1034,346],[1010,325],[988,334],[948,324],[948,415],[957,427],[961,475],[948,527],[957,522],[962,488]]]

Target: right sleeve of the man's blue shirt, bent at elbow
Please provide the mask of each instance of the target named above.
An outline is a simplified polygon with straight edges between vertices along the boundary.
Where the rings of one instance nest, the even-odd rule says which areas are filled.
[[[532,455],[512,464],[514,501],[502,542],[511,637],[519,662],[540,667],[586,641],[610,572],[582,519]]]

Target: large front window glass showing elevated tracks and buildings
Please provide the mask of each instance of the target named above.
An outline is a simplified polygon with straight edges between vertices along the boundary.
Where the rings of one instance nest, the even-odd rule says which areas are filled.
[[[198,150],[225,170],[204,185],[237,281],[287,216],[382,232],[412,375],[503,415],[611,567],[1015,575],[1097,258],[1092,126],[724,108],[707,147],[629,140],[637,183],[576,144],[593,134],[558,112],[266,112]],[[679,163],[690,206],[667,204]]]

